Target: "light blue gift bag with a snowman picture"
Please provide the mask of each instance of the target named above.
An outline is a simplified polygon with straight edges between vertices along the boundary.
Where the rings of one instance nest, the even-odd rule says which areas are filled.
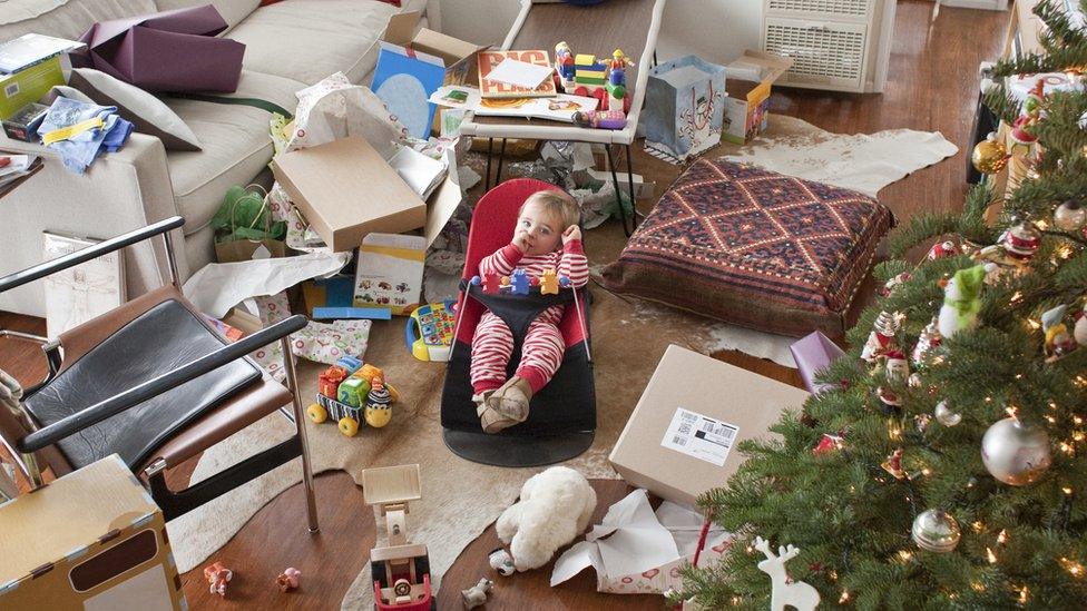
[[[725,67],[685,56],[649,70],[642,128],[646,151],[686,161],[721,141]]]

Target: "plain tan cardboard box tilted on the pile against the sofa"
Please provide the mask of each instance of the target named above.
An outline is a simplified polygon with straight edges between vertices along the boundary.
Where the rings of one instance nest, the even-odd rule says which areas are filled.
[[[335,252],[427,224],[427,204],[361,136],[278,155],[272,173]]]

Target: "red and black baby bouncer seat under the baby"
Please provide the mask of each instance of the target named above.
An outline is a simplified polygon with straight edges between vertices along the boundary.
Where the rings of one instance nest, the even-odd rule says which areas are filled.
[[[521,204],[536,191],[558,187],[530,178],[507,180],[488,191],[476,205],[468,234],[468,252],[457,299],[456,336],[442,391],[441,423],[445,445],[472,462],[498,466],[552,464],[588,450],[596,431],[596,392],[589,343],[588,293],[585,287],[560,288],[542,295],[484,294],[471,279],[479,263],[510,243]],[[584,238],[582,238],[584,239]],[[497,434],[483,433],[472,402],[472,337],[487,309],[513,332],[513,353],[507,375],[521,359],[528,324],[551,305],[566,304],[559,331],[566,343],[562,364],[551,381],[532,396],[528,420]]]

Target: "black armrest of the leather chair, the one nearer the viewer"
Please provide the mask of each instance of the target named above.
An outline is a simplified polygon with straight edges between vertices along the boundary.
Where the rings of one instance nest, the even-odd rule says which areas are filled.
[[[196,361],[192,361],[169,373],[165,373],[155,380],[134,386],[119,395],[115,395],[106,401],[99,402],[90,407],[72,414],[59,422],[45,426],[28,434],[18,442],[20,452],[37,452],[58,441],[75,435],[76,433],[94,426],[99,422],[115,416],[125,410],[139,405],[140,403],[158,396],[166,391],[180,386],[190,380],[195,380],[206,373],[212,372],[232,361],[237,361],[246,354],[282,339],[292,333],[301,331],[309,321],[305,316],[296,314],[290,318],[261,329],[253,335],[243,337],[237,342],[223,346],[217,351],[204,355]],[[290,354],[285,355],[290,358]]]

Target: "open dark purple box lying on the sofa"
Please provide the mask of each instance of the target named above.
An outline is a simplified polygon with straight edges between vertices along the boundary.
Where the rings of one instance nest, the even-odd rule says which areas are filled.
[[[245,45],[215,38],[227,27],[212,4],[95,23],[80,37],[76,67],[94,68],[145,91],[237,89]]]

